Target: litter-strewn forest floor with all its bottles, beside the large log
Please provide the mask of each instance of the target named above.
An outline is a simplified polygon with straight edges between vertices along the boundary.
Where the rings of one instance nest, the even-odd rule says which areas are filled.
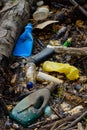
[[[86,19],[85,0],[32,5],[0,67],[1,129],[87,129]]]

